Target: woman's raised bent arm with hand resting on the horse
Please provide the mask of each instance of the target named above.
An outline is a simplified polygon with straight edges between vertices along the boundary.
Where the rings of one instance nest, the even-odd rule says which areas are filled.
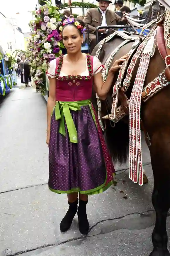
[[[113,63],[112,67],[108,72],[106,81],[104,83],[101,76],[101,72],[94,75],[94,90],[96,91],[97,95],[101,98],[101,100],[106,99],[106,96],[113,82],[114,74],[118,69],[121,68],[122,65],[120,65],[120,63],[122,63],[125,59],[127,59],[127,57],[128,55],[125,55]]]

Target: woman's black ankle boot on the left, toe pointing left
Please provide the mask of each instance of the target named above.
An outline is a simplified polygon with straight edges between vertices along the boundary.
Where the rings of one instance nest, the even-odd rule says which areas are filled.
[[[74,216],[77,213],[78,200],[73,203],[68,202],[68,204],[69,204],[69,209],[60,223],[61,232],[65,232],[71,227]]]

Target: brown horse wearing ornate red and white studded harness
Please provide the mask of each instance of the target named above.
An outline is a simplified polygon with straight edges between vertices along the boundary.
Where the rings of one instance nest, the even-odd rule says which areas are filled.
[[[160,2],[165,2],[166,8],[169,7],[166,0],[160,0]],[[134,164],[130,167],[130,178],[134,182],[137,182],[139,178],[140,185],[142,185],[141,169],[139,169],[139,177],[136,177],[136,169],[132,168],[136,166],[135,158],[132,156],[137,155],[138,161],[140,159],[140,150],[137,151],[140,148],[140,140],[137,141],[138,144],[134,143],[132,135],[138,136],[140,127],[144,131],[154,175],[152,204],[156,212],[156,222],[152,233],[153,250],[150,256],[170,256],[166,232],[166,218],[170,208],[170,8],[166,9],[165,14],[159,16],[157,23],[152,25],[152,31],[142,42],[139,39],[137,41],[135,36],[127,36],[117,31],[97,44],[91,55],[96,55],[105,66],[102,71],[104,81],[114,60],[127,53],[129,57],[124,61],[125,64],[122,64],[121,70],[115,74],[113,86],[106,100],[100,100],[93,93],[92,103],[98,112],[98,119],[110,155],[114,161],[123,164],[130,153],[130,164]],[[144,50],[142,53],[140,51],[144,43],[147,45],[147,50],[151,46],[153,48],[150,49],[152,52],[150,62],[145,63],[147,69],[145,69],[146,65],[141,64],[144,64],[150,56]],[[145,56],[146,59],[141,56]],[[141,74],[139,66],[143,70]],[[143,84],[139,81],[139,76],[144,79]],[[137,89],[136,86],[141,85],[142,88]],[[141,90],[138,95],[135,94],[137,90]],[[138,105],[136,109],[133,108],[133,104],[136,104],[134,95],[137,95],[136,99],[141,99],[141,105]],[[139,110],[138,120],[137,115],[134,115],[137,109]],[[134,120],[137,120],[136,123]],[[131,126],[132,123],[134,127]],[[140,126],[137,127],[137,125]],[[134,129],[137,129],[135,131],[139,134],[132,133]],[[140,161],[138,164],[140,166]]]

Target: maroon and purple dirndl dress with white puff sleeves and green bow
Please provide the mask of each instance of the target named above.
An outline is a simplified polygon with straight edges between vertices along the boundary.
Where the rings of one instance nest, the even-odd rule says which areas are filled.
[[[115,174],[90,100],[93,74],[102,65],[98,58],[86,55],[84,74],[64,75],[63,57],[52,60],[48,70],[48,76],[57,79],[50,128],[49,189],[55,193],[101,193],[113,184]]]

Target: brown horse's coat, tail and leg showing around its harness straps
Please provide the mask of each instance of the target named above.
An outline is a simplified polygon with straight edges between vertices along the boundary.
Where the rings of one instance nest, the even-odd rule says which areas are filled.
[[[169,12],[170,13],[170,12]],[[168,15],[168,13],[167,13]],[[170,23],[170,20],[169,20]],[[169,24],[170,28],[170,24]],[[170,33],[170,32],[169,32]],[[169,34],[170,37],[170,34]],[[169,39],[169,38],[168,38]],[[167,39],[167,40],[168,40]],[[98,58],[103,64],[106,63],[113,50],[124,41],[123,38],[114,37],[113,40],[104,43]],[[164,40],[162,41],[164,42]],[[128,53],[134,42],[130,41],[122,46],[116,53],[113,61]],[[170,41],[169,41],[170,43]],[[95,47],[92,55],[96,55],[96,51],[100,47],[101,42]],[[170,47],[170,46],[169,46]],[[150,60],[149,68],[145,78],[144,86],[148,85],[154,80],[163,70],[166,68],[165,59],[161,57],[160,49],[156,46],[155,53]],[[167,54],[170,55],[170,49],[166,48]],[[135,52],[134,52],[135,53]],[[132,57],[131,57],[132,58]],[[112,63],[113,63],[112,61]],[[130,63],[129,60],[128,64]],[[135,68],[132,73],[129,89],[126,92],[126,96],[130,99],[132,88],[137,76],[137,70],[139,66],[139,58],[136,62]],[[112,64],[111,63],[111,64]],[[110,66],[111,66],[110,64]],[[128,66],[128,65],[127,65]],[[124,78],[126,76],[126,72]],[[118,74],[113,80],[113,85],[118,78]],[[124,79],[123,78],[123,79]],[[166,77],[170,81],[169,77]],[[123,87],[123,84],[121,84]],[[107,97],[107,102],[101,101],[101,114],[102,116],[111,113],[113,87]],[[96,104],[96,97],[92,99],[93,105],[98,110]],[[119,105],[121,100],[119,100]],[[150,137],[150,155],[151,164],[154,174],[154,189],[152,193],[152,204],[156,212],[156,223],[152,233],[153,251],[150,256],[169,256],[170,253],[167,250],[167,232],[166,232],[166,218],[170,208],[170,82],[169,86],[165,86],[157,94],[151,97],[146,102],[141,104],[141,119],[143,127]],[[128,115],[126,115],[119,122],[105,120],[105,137],[110,150],[110,154],[113,156],[114,161],[119,161],[121,164],[127,161],[128,144],[129,144],[129,129],[128,129]],[[113,127],[114,126],[114,127]],[[141,127],[142,128],[142,127]]]

